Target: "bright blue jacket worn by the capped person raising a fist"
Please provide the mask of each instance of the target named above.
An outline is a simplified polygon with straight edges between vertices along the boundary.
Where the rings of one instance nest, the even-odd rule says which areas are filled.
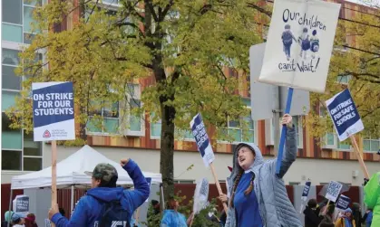
[[[93,227],[94,223],[102,217],[102,203],[96,198],[106,202],[119,200],[122,207],[130,213],[128,220],[131,220],[133,212],[149,197],[150,187],[142,175],[140,167],[132,159],[123,169],[131,176],[134,190],[124,190],[122,187],[95,187],[90,189],[87,191],[87,195],[83,196],[75,206],[70,221],[61,213],[54,214],[52,222],[56,227]]]

